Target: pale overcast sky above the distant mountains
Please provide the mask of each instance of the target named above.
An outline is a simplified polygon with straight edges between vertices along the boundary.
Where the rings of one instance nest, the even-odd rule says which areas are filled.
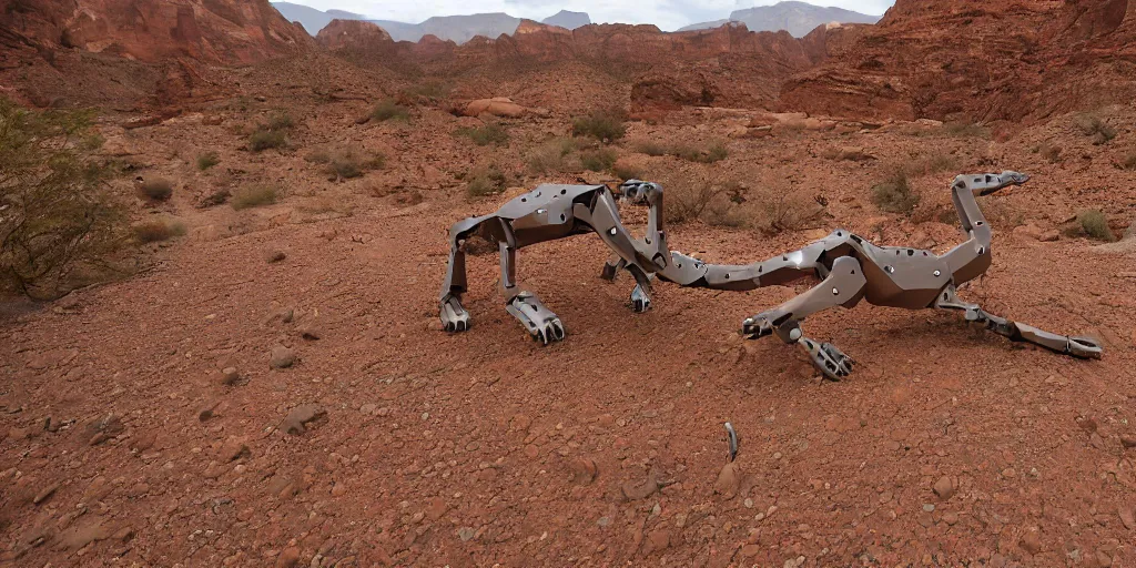
[[[503,11],[511,16],[544,19],[561,9],[586,11],[595,23],[655,24],[677,30],[696,22],[724,19],[733,10],[777,3],[777,0],[287,0],[320,10],[340,9],[417,24],[431,16]],[[824,0],[811,3],[836,6],[863,14],[882,15],[894,0]]]

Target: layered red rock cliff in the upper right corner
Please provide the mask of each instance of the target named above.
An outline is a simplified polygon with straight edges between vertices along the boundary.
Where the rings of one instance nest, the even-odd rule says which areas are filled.
[[[899,0],[877,26],[811,39],[824,62],[791,77],[780,105],[836,116],[1021,120],[1131,100],[1134,3]]]

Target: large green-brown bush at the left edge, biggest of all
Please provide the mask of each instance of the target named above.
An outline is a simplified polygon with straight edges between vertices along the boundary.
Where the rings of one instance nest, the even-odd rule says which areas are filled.
[[[0,97],[0,292],[57,298],[105,277],[126,242],[93,116]]]

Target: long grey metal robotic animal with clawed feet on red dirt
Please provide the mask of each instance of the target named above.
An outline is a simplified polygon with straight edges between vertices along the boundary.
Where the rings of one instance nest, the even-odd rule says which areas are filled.
[[[517,279],[517,251],[524,247],[595,233],[611,249],[601,277],[615,279],[627,270],[635,279],[630,306],[636,312],[651,308],[655,277],[683,287],[747,291],[784,285],[803,278],[819,283],[787,302],[750,318],[742,334],[752,340],[776,335],[804,350],[826,377],[838,381],[852,373],[854,361],[835,345],[804,335],[801,323],[819,311],[870,304],[961,311],[968,321],[1013,342],[1027,342],[1081,359],[1099,359],[1101,345],[1088,337],[1067,336],[992,315],[963,301],[958,287],[991,267],[991,227],[977,198],[1022,185],[1029,176],[1018,172],[960,175],[951,194],[966,240],[938,256],[928,250],[879,247],[837,228],[803,249],[749,265],[715,265],[670,251],[663,228],[663,190],[651,182],[630,179],[615,192],[605,185],[541,185],[506,203],[496,212],[463,219],[450,229],[450,262],[442,284],[440,310],[448,332],[469,329],[469,312],[461,306],[467,290],[465,242],[474,236],[496,242],[501,254],[501,294],[506,310],[520,320],[534,340],[544,344],[565,337],[563,324],[536,294]],[[620,223],[617,198],[650,208],[642,237]]]

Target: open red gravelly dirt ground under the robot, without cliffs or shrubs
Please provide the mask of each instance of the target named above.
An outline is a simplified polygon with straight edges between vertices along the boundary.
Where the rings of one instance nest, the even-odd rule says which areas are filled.
[[[708,261],[765,259],[836,227],[942,251],[961,239],[955,173],[1033,176],[982,198],[994,265],[962,295],[1099,337],[1104,358],[864,304],[804,324],[859,362],[828,383],[797,351],[736,333],[793,289],[658,284],[654,308],[635,315],[628,277],[599,279],[607,251],[590,236],[519,256],[521,278],[566,325],[562,343],[537,346],[504,311],[494,254],[469,259],[473,329],[441,332],[446,228],[538,183],[610,178],[538,175],[527,161],[577,112],[630,107],[632,82],[585,60],[470,64],[443,76],[450,99],[542,109],[485,118],[510,141],[477,147],[454,133],[481,119],[442,101],[412,107],[408,122],[361,120],[420,76],[357,56],[206,67],[211,94],[183,99],[177,116],[102,114],[105,153],[175,182],[169,203],[134,203],[136,218],[173,217],[189,234],[148,245],[131,278],[0,310],[0,566],[1136,560],[1136,240],[1101,244],[1075,222],[1100,209],[1114,232],[1134,233],[1136,170],[1122,167],[1136,152],[1131,108],[1094,110],[1117,131],[1100,145],[1075,112],[989,137],[862,108],[852,120],[683,107],[629,123],[613,148],[667,184],[668,203],[702,179],[744,182],[730,187],[746,207],[780,194],[827,203],[776,235],[669,227],[674,249]],[[135,86],[154,97],[151,83]],[[249,152],[251,127],[279,112],[295,122],[289,147]],[[729,156],[712,165],[640,152],[717,141]],[[382,152],[386,165],[329,179],[315,154],[344,149]],[[200,172],[206,151],[220,162]],[[510,190],[467,198],[465,176],[491,164]],[[922,197],[909,216],[871,201],[899,166]],[[252,183],[278,186],[282,202],[198,207]],[[642,210],[624,214],[643,222]],[[742,441],[724,473],[725,421]]]

